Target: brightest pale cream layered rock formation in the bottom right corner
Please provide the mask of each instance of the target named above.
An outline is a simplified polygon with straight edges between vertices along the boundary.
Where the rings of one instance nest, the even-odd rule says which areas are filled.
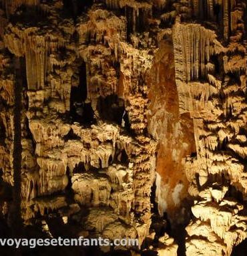
[[[200,191],[201,200],[192,207],[197,220],[186,227],[186,255],[196,255],[205,247],[207,252],[202,255],[230,255],[233,245],[246,238],[247,218],[238,214],[244,207],[234,199],[224,198],[227,190],[227,186],[214,183]]]

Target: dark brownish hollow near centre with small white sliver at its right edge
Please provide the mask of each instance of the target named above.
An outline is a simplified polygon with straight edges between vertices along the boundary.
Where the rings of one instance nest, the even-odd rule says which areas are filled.
[[[115,122],[121,125],[124,117],[125,109],[124,102],[118,98],[116,94],[111,94],[105,98],[99,97],[97,102],[97,110],[99,111],[100,118],[105,121]],[[127,121],[127,120],[126,120]]]

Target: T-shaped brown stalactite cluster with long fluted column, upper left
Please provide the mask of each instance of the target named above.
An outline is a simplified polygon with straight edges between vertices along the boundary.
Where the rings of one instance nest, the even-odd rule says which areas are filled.
[[[25,55],[27,86],[29,90],[43,89],[45,86],[48,52],[64,47],[65,41],[53,35],[35,35],[38,29],[19,30],[9,25],[4,35],[4,43],[17,57]]]

